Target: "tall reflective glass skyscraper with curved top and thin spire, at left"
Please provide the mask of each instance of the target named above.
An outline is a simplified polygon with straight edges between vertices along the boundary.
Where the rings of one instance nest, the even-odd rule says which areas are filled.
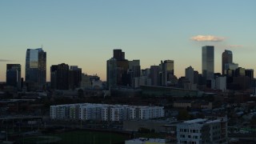
[[[26,82],[37,89],[46,86],[46,52],[42,48],[26,50]]]

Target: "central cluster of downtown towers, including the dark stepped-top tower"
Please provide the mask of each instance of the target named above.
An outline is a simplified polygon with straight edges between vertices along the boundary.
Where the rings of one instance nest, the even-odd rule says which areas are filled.
[[[113,50],[113,58],[106,62],[107,88],[128,86],[174,86],[174,61],[161,61],[159,66],[141,70],[140,61],[129,61],[122,50]]]

